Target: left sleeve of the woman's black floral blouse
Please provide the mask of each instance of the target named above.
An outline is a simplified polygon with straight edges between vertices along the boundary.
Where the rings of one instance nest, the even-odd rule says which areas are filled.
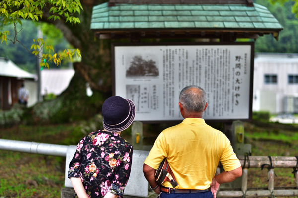
[[[84,138],[85,139],[85,138]],[[81,149],[83,146],[84,139],[80,140],[77,144],[76,151],[74,153],[74,157],[70,162],[70,168],[68,170],[67,177],[80,177],[80,160],[81,160]]]

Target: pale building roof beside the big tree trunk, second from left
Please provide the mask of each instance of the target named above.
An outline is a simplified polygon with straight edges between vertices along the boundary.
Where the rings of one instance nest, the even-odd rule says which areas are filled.
[[[74,69],[44,69],[41,74],[41,95],[60,95],[70,84]]]

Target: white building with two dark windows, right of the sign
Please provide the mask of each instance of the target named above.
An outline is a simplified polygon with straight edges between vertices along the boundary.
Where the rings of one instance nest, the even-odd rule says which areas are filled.
[[[298,54],[256,53],[253,111],[298,113]]]

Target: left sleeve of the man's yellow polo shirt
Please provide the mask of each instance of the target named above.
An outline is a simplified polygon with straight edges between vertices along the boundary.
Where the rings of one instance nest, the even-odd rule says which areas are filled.
[[[157,169],[159,164],[164,158],[168,156],[166,138],[161,132],[157,137],[149,155],[144,161],[144,164],[147,164],[151,168]]]

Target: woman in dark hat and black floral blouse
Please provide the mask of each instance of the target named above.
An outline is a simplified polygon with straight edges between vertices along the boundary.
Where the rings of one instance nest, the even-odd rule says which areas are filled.
[[[129,99],[113,96],[103,103],[102,115],[104,130],[80,140],[70,162],[68,178],[74,198],[123,197],[133,147],[119,135],[132,124],[135,105]]]

